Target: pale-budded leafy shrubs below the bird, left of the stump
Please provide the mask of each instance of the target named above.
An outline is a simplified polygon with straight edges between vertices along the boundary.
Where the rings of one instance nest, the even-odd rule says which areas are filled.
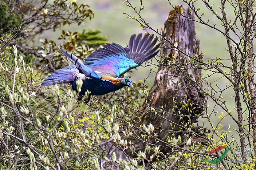
[[[125,88],[118,94],[122,98],[106,95],[102,101],[95,102],[96,105],[88,106],[78,103],[75,92],[65,86],[37,86],[33,80],[42,75],[36,73],[31,64],[24,64],[15,46],[12,50],[13,53],[5,53],[3,57],[8,63],[14,56],[13,64],[1,63],[0,66],[2,77],[10,80],[0,83],[7,95],[0,104],[0,139],[4,144],[0,145],[4,151],[0,164],[3,168],[9,163],[12,167],[13,162],[21,159],[17,165],[24,164],[25,169],[39,169],[41,165],[46,169],[58,166],[94,169],[100,166],[99,158],[106,155],[102,150],[105,141],[128,146],[127,136],[121,139],[119,129],[131,127],[135,110],[127,112],[126,107],[137,109],[148,92],[146,85],[139,83],[135,90]],[[13,83],[16,84],[14,91]],[[131,102],[135,99],[137,104]],[[126,106],[119,105],[119,100]],[[126,122],[120,122],[118,117]],[[127,135],[129,130],[125,131]],[[13,158],[10,158],[11,153],[16,153]],[[120,165],[128,163],[127,166],[134,169],[136,162],[134,159],[134,165],[129,162],[120,162]]]

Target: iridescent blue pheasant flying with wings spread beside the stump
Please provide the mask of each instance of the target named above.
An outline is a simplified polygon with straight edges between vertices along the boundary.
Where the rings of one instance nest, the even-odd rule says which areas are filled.
[[[159,50],[160,44],[157,44],[158,38],[148,33],[143,36],[142,33],[137,37],[131,36],[128,47],[123,48],[119,44],[106,44],[90,54],[83,63],[72,53],[62,49],[63,54],[67,56],[75,65],[66,66],[63,69],[56,70],[43,82],[43,86],[55,84],[70,83],[72,89],[78,92],[76,80],[82,79],[83,85],[79,93],[78,100],[82,100],[85,92],[88,90],[91,95],[101,96],[130,86],[133,88],[130,78],[120,78],[129,70],[140,66],[144,61],[153,58]],[[152,41],[153,40],[153,41]]]

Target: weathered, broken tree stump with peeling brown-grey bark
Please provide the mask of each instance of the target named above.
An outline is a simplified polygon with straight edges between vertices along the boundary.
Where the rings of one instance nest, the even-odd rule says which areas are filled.
[[[184,9],[179,7],[176,10]],[[188,18],[173,10],[165,22],[162,30],[164,39],[162,39],[161,56],[166,57],[159,65],[144,112],[136,121],[137,127],[153,124],[157,137],[151,136],[143,142],[140,140],[143,132],[135,132],[136,140],[132,139],[131,142],[136,151],[143,151],[146,144],[156,144],[157,141],[158,145],[165,145],[168,136],[177,138],[180,135],[184,139],[184,131],[191,129],[192,124],[197,122],[198,115],[203,112],[205,98],[200,90],[202,89],[201,69],[197,69],[189,62],[191,60],[189,56],[199,55],[195,23],[189,19],[189,17],[194,18],[194,14],[190,14],[190,10],[186,9],[183,15]],[[182,108],[184,104],[187,106]],[[157,114],[152,112],[152,108],[159,109],[156,109]],[[171,149],[162,147],[161,151],[166,153]],[[132,152],[127,151],[127,153],[131,155]]]

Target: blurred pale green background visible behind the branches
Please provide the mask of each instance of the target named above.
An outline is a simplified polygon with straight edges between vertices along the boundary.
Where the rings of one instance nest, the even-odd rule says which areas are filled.
[[[132,34],[144,32],[141,27],[139,27],[139,24],[136,21],[132,19],[127,19],[126,15],[123,14],[123,12],[126,12],[130,16],[135,15],[133,9],[127,7],[124,0],[77,0],[76,2],[78,4],[88,4],[91,10],[94,12],[94,18],[92,20],[87,20],[87,22],[81,24],[80,26],[77,26],[75,24],[71,26],[65,26],[65,31],[82,32],[83,29],[99,29],[100,31],[102,31],[102,35],[106,36],[110,43],[115,42],[122,46],[126,46],[126,43],[129,42],[130,36]],[[184,7],[187,6],[180,0],[172,0],[170,2],[174,6],[180,4],[182,4]],[[130,3],[134,6],[139,7],[139,0],[130,0]],[[217,14],[221,16],[220,9],[218,8],[218,6],[220,5],[220,1],[211,0],[210,3],[215,4],[213,6],[213,9],[217,11]],[[217,28],[222,31],[224,30],[224,28],[222,28],[221,26],[221,22],[217,20],[216,16],[214,16],[212,12],[210,12],[202,2],[198,1],[195,4],[196,6],[201,7],[199,14],[205,13],[203,18],[206,22],[208,19],[210,19],[210,24],[216,24]],[[141,15],[143,19],[149,22],[151,27],[153,27],[154,29],[163,27],[169,12],[173,9],[173,7],[169,5],[169,2],[167,0],[147,0],[143,3],[143,5],[145,6],[145,9],[142,11]],[[234,9],[232,9],[232,7],[227,4],[226,11],[228,20],[234,18],[233,10]],[[44,33],[43,39],[47,38],[56,40],[57,37],[60,35],[60,31],[62,29],[59,29],[56,32],[51,31]],[[209,58],[215,58],[215,56],[221,57],[223,59],[230,58],[229,53],[227,52],[227,50],[225,50],[225,48],[227,48],[226,39],[221,33],[199,23],[196,23],[196,31],[197,37],[200,40],[200,50],[206,53],[204,57],[205,61],[207,61],[207,59]],[[226,65],[231,65],[231,60],[223,60],[222,63]],[[143,80],[143,78],[149,75],[150,68],[150,66],[146,68],[139,67],[137,70],[133,70],[133,73],[131,74],[131,79],[135,82]],[[156,72],[157,68],[154,68],[153,71]],[[226,71],[228,72],[229,70]],[[206,72],[203,72],[203,75],[205,77]],[[126,76],[129,76],[129,74],[126,74]],[[150,74],[149,79],[147,80],[150,85],[153,85],[154,76],[155,73]],[[226,87],[227,81],[224,78],[219,79],[220,76],[221,75],[214,74],[214,76],[209,78],[209,82],[213,82],[213,86],[215,84],[218,84],[220,88],[224,89]],[[229,82],[227,83],[229,84]],[[219,94],[217,94],[217,96],[218,95]],[[237,118],[235,110],[235,100],[231,97],[234,96],[233,89],[229,88],[227,90],[224,90],[221,95],[224,96],[224,100],[227,101],[227,107],[229,110],[231,110],[232,115]],[[221,115],[222,110],[218,106],[214,107],[215,103],[212,100],[208,100],[208,105],[208,114],[212,113],[214,108],[214,113],[212,113],[212,115],[210,116],[210,121],[213,122],[214,126],[216,126],[220,121],[218,116]],[[206,119],[201,118],[199,121],[201,125],[203,120]],[[225,117],[220,122],[220,124],[222,124],[223,127],[218,131],[228,130],[229,124],[231,124],[231,129],[229,130],[232,130],[233,128],[237,129],[237,125],[233,120],[231,120],[229,116]],[[205,121],[205,126],[210,127],[208,121]],[[235,138],[238,137],[238,134],[233,130],[231,134],[234,135]],[[229,139],[231,139],[232,135],[229,135]]]

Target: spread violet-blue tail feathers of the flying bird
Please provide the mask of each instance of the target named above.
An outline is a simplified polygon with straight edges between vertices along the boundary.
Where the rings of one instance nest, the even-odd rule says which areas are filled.
[[[49,77],[47,77],[43,82],[42,86],[51,86],[55,84],[62,84],[71,81],[75,81],[76,75],[79,73],[75,65],[66,66],[63,69],[56,70]]]

